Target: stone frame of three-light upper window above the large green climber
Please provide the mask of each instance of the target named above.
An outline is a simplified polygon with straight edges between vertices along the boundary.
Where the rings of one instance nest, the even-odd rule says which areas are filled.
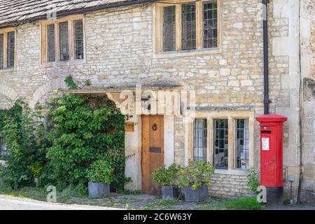
[[[75,59],[74,49],[74,21],[83,20],[83,59]],[[69,43],[69,60],[60,60],[59,50],[59,23],[68,22],[68,43]],[[48,62],[48,34],[47,26],[55,25],[55,62]],[[85,17],[84,15],[69,15],[57,20],[42,20],[41,27],[41,64],[46,66],[53,66],[55,64],[69,64],[71,62],[85,62],[86,48],[85,48]]]

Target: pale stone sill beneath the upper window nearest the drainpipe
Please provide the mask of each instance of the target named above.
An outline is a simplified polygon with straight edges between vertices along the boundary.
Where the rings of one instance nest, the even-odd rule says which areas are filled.
[[[213,55],[220,54],[222,52],[221,48],[209,48],[200,50],[181,50],[181,51],[171,51],[171,52],[156,52],[153,54],[154,58],[169,58],[169,57],[188,57],[188,56],[198,56],[198,55]]]

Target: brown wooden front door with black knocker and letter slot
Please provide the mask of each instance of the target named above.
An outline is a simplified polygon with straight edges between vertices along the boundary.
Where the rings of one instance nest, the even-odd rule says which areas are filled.
[[[142,191],[160,195],[161,187],[152,173],[164,165],[164,117],[142,116]]]

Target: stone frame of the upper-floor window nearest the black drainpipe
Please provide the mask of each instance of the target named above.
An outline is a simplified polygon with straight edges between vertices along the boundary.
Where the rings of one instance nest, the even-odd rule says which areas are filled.
[[[202,29],[202,23],[203,23],[203,3],[211,1],[211,0],[200,0],[192,2],[191,0],[165,0],[162,3],[155,3],[155,10],[153,11],[153,16],[155,18],[154,22],[154,33],[153,33],[153,48],[155,52],[163,53],[163,54],[169,54],[174,52],[195,52],[195,51],[211,51],[221,48],[221,1],[222,0],[212,0],[216,1],[218,3],[217,8],[217,16],[218,16],[218,22],[217,22],[217,40],[218,45],[216,48],[203,48],[203,29]],[[192,50],[181,50],[181,5],[185,3],[195,3],[196,5],[196,49]],[[176,46],[175,51],[163,51],[163,7],[165,6],[175,6],[176,7]]]

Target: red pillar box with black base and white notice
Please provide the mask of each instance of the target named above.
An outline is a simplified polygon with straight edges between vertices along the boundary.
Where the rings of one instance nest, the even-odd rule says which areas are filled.
[[[279,200],[283,192],[283,123],[288,118],[267,114],[256,120],[260,123],[260,185],[267,187],[267,201]]]

